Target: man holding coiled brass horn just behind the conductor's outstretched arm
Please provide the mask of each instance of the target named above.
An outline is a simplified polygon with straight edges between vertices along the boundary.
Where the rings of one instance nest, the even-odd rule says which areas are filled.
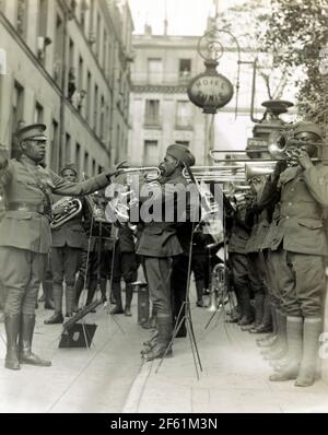
[[[78,171],[73,165],[65,166],[60,175],[62,179],[77,183]],[[62,324],[62,294],[63,281],[66,282],[66,316],[72,316],[75,303],[75,274],[79,270],[79,262],[82,249],[87,248],[87,239],[83,227],[83,214],[85,211],[84,201],[81,200],[82,210],[74,217],[51,230],[51,271],[52,271],[52,295],[55,314],[47,320],[46,325]],[[59,205],[58,214],[65,214]]]

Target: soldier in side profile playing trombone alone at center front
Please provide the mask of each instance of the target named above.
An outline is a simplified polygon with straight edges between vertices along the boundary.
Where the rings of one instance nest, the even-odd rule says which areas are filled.
[[[186,195],[186,179],[183,176],[185,164],[192,166],[195,157],[189,150],[183,145],[173,144],[166,150],[164,162],[161,163],[163,179],[156,188],[152,186],[152,202],[153,209],[160,205],[165,210],[165,204],[169,204],[174,215],[177,214],[177,203],[173,200],[172,192],[181,192]],[[147,197],[145,199],[149,199]],[[172,201],[172,202],[171,202]],[[185,212],[185,210],[184,210]],[[181,269],[181,258],[184,249],[180,242],[190,243],[189,231],[181,228],[179,238],[177,230],[177,220],[152,220],[144,222],[143,232],[141,234],[137,254],[143,256],[144,269],[149,284],[150,297],[156,311],[157,318],[157,338],[154,345],[148,348],[143,353],[147,361],[163,357],[166,349],[172,340],[173,330],[173,308],[172,308],[172,274],[177,277],[179,272],[179,280],[175,283],[178,285],[178,291],[185,295],[186,292],[186,264]],[[188,235],[188,236],[187,236]],[[177,257],[179,256],[179,258]],[[173,269],[173,261],[175,260],[175,269]],[[178,267],[179,264],[179,267]],[[177,287],[176,287],[177,289]],[[179,296],[183,299],[181,296]],[[168,350],[167,356],[172,355],[172,349]]]

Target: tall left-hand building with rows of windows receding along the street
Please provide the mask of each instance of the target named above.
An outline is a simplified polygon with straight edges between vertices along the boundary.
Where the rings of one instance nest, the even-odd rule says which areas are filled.
[[[0,142],[44,122],[54,171],[125,157],[132,31],[127,1],[0,0]]]

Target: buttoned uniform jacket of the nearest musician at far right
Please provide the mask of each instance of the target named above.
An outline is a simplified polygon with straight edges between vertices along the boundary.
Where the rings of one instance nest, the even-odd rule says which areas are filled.
[[[279,186],[280,217],[271,249],[283,243],[292,252],[326,256],[323,208],[328,205],[328,169],[321,164],[305,172],[290,167],[280,175]]]

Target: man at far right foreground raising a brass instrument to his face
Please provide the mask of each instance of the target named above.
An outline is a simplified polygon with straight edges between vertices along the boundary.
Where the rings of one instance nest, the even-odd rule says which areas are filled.
[[[317,156],[315,142],[323,138],[319,126],[300,122],[296,165],[279,178],[280,220],[271,250],[277,250],[277,283],[286,313],[288,356],[272,381],[296,379],[295,386],[313,385],[316,374],[321,310],[325,293],[324,256],[327,239],[324,208],[328,207],[328,173]],[[306,142],[314,142],[313,144]]]

